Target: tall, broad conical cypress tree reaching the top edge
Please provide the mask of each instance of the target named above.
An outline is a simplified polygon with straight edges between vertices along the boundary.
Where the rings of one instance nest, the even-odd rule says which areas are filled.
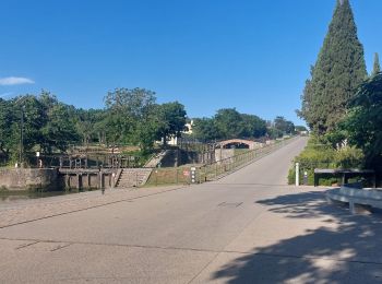
[[[363,47],[349,0],[337,0],[329,32],[311,69],[298,115],[319,134],[335,129],[347,103],[367,78]]]

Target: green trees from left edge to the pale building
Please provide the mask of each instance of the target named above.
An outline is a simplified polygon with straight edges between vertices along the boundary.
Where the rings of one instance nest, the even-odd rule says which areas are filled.
[[[179,137],[187,113],[178,102],[157,104],[144,88],[116,88],[104,109],[63,104],[49,92],[0,98],[0,162],[20,161],[28,152],[62,153],[70,145],[139,145],[150,151],[156,140]],[[22,158],[23,159],[23,158]]]

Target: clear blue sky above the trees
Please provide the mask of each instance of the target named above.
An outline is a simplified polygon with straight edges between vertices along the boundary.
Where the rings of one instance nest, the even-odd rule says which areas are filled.
[[[351,0],[368,69],[382,58],[381,0]],[[179,100],[190,117],[295,109],[335,0],[1,0],[0,96],[103,108],[115,87]],[[13,79],[11,79],[13,78]],[[24,80],[29,81],[20,81]],[[19,80],[19,81],[17,81]]]

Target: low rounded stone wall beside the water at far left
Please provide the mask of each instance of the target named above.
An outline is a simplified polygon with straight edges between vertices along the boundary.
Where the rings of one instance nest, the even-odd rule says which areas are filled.
[[[0,168],[0,188],[10,190],[58,189],[60,186],[57,169]]]

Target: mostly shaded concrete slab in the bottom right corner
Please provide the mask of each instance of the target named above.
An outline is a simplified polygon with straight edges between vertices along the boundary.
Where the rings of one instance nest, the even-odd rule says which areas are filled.
[[[381,269],[375,263],[223,252],[193,283],[379,283]]]

